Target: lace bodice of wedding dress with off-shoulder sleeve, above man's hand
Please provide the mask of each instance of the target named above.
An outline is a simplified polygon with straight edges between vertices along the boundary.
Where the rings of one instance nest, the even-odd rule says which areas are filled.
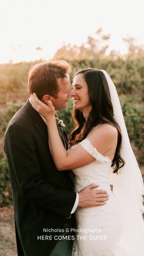
[[[107,188],[110,185],[110,166],[111,160],[108,156],[103,156],[99,153],[88,139],[82,141],[81,146],[93,156],[96,160],[87,166],[73,169],[75,175],[75,188],[76,191],[81,190],[91,183],[96,183],[99,188]]]

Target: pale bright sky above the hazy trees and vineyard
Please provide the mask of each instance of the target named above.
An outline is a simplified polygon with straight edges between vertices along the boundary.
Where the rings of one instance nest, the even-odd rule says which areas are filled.
[[[144,43],[143,10],[143,0],[0,0],[0,63],[48,60],[99,27],[111,35],[110,49],[126,53],[123,38]]]

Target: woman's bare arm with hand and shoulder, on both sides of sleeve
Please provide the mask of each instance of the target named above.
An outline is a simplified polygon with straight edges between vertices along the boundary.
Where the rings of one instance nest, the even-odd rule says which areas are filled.
[[[54,115],[55,111],[51,101],[49,101],[48,106],[41,103],[35,96],[32,101],[34,108],[46,119],[49,134],[49,147],[51,148],[52,158],[54,159],[54,163],[58,170],[74,169],[95,161],[95,158],[93,158],[81,144],[75,145],[71,150],[65,150],[57,130],[56,118]],[[96,133],[98,133],[96,130],[90,137],[88,137],[88,139],[92,142],[93,146],[97,148],[99,153],[103,154],[109,150],[109,142],[112,141],[112,136],[109,136],[109,141],[106,143],[107,129],[106,133],[103,132],[103,129],[101,129],[101,131],[102,133],[99,133],[98,136],[96,136]],[[98,137],[98,139],[96,139],[96,137]]]

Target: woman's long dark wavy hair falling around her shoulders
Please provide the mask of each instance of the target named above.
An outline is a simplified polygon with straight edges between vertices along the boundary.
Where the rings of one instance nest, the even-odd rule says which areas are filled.
[[[112,160],[113,173],[118,172],[118,169],[124,166],[124,159],[120,156],[121,148],[121,130],[118,123],[113,117],[113,106],[110,99],[109,86],[104,76],[103,71],[93,68],[86,68],[77,71],[75,74],[82,74],[88,86],[88,94],[92,104],[87,121],[81,111],[74,109],[72,118],[75,123],[74,130],[70,133],[70,146],[81,142],[87,137],[90,130],[99,124],[109,123],[115,126],[118,131],[118,142],[115,155]]]

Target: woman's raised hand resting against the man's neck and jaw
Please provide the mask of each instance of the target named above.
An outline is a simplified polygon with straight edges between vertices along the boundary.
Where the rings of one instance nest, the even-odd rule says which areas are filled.
[[[51,117],[54,117],[55,109],[50,100],[47,102],[46,105],[42,103],[40,100],[38,100],[37,95],[35,93],[31,94],[31,100],[33,108],[39,114],[43,115],[43,117],[45,117],[46,120],[49,120],[51,119]]]

